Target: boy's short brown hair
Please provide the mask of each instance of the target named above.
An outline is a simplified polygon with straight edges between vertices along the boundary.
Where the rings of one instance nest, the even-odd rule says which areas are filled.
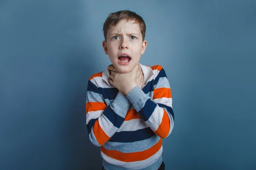
[[[143,18],[140,17],[140,15],[136,14],[135,12],[128,11],[128,10],[117,11],[115,13],[110,13],[108,15],[108,18],[106,19],[103,25],[103,30],[102,30],[104,32],[105,41],[107,40],[108,29],[111,26],[116,26],[116,24],[118,24],[120,20],[124,20],[124,19],[126,19],[127,21],[134,20],[135,23],[139,24],[140,32],[142,34],[142,41],[144,41],[145,33],[146,33],[146,25]]]

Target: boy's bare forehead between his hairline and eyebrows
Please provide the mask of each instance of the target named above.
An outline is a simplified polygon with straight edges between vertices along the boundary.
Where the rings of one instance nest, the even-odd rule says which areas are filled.
[[[126,33],[136,33],[141,34],[140,32],[140,26],[138,23],[135,23],[134,20],[120,20],[119,23],[116,24],[116,26],[111,26],[108,30],[109,34],[114,33],[122,33],[125,31]]]

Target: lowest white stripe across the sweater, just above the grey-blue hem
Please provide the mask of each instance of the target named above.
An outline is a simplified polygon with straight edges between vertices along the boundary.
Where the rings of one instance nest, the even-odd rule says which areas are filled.
[[[156,161],[161,156],[162,152],[163,152],[163,146],[161,146],[160,150],[158,150],[157,153],[155,153],[154,155],[152,155],[148,159],[145,159],[143,161],[134,161],[134,162],[118,161],[116,159],[113,159],[113,158],[105,155],[103,152],[101,152],[101,156],[109,164],[124,167],[124,168],[127,168],[127,169],[140,169],[140,168],[143,168],[143,167],[147,167],[149,164]]]

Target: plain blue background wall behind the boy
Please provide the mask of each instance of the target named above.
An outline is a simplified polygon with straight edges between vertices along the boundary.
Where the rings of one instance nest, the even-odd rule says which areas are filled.
[[[255,0],[1,0],[0,169],[101,168],[87,81],[111,64],[102,27],[124,9],[147,26],[140,62],[171,85],[166,170],[256,169]]]

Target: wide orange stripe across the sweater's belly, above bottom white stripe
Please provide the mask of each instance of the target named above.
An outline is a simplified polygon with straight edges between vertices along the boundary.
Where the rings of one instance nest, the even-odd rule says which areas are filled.
[[[157,144],[155,144],[151,148],[141,152],[122,153],[117,150],[107,150],[103,146],[101,147],[101,151],[113,159],[123,161],[123,162],[133,162],[133,161],[143,161],[145,159],[148,159],[149,157],[157,153],[157,151],[160,150],[161,146],[162,146],[162,139],[160,139],[159,142],[157,142]]]

